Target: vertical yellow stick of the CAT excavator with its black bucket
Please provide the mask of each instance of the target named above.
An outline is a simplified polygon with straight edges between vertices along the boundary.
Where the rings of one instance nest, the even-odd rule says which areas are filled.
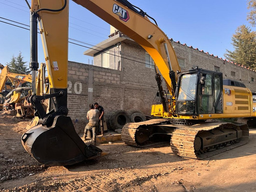
[[[68,6],[66,0],[32,0],[31,59],[32,95],[28,101],[35,109],[39,124],[22,136],[25,150],[47,165],[70,165],[101,155],[100,148],[86,145],[77,135],[67,108],[68,82]],[[50,93],[36,94],[37,24],[44,47]],[[47,113],[42,101],[50,99]]]

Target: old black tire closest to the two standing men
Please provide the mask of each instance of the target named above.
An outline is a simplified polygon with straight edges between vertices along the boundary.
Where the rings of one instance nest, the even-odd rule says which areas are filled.
[[[109,116],[109,125],[111,130],[122,129],[123,125],[130,122],[129,115],[123,111],[118,110]]]

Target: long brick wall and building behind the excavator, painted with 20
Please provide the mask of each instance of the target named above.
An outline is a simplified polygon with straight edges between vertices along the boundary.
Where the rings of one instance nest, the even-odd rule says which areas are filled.
[[[182,70],[195,66],[215,70],[216,66],[220,68],[224,78],[241,79],[249,89],[256,91],[256,84],[251,82],[251,77],[256,80],[254,71],[177,42],[173,42],[173,46],[177,57],[185,60],[185,68]],[[117,50],[121,53],[114,56],[113,53]],[[117,57],[117,54],[121,57]],[[117,69],[114,65],[117,59],[121,61],[120,69],[114,70]],[[138,109],[145,115],[150,115],[151,104],[158,89],[155,70],[145,67],[143,48],[134,41],[123,40],[120,46],[111,48],[110,68],[98,66],[101,66],[100,54],[95,55],[94,66],[69,62],[68,108],[73,120],[86,119],[88,105],[94,102],[104,107],[106,115],[120,109]],[[231,75],[231,71],[235,72],[235,76]]]

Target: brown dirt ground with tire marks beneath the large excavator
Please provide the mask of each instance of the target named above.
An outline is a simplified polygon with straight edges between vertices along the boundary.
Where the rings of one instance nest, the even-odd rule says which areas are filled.
[[[256,191],[256,130],[249,143],[206,160],[172,154],[168,144],[100,144],[109,155],[45,166],[20,143],[29,121],[0,112],[0,191]]]

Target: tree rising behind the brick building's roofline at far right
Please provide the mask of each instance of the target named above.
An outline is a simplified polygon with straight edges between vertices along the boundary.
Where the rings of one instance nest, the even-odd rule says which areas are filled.
[[[234,51],[226,50],[224,56],[230,61],[256,69],[256,33],[242,25],[232,36]]]

